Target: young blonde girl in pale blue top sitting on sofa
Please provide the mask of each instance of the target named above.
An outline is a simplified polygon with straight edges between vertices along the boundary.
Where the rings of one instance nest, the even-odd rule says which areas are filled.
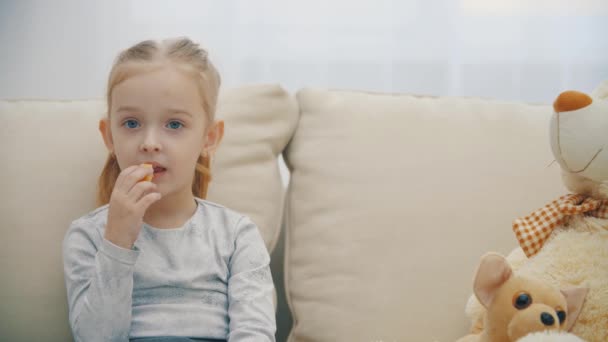
[[[102,206],[73,221],[63,243],[77,341],[274,341],[261,235],[248,217],[204,200],[223,136],[219,85],[188,39],[118,56],[99,123],[109,150]]]

